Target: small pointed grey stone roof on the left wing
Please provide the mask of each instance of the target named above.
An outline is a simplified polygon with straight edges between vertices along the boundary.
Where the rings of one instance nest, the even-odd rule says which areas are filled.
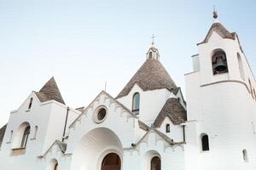
[[[36,92],[36,94],[41,102],[54,99],[65,105],[54,77],[51,77],[49,81],[44,84],[44,87],[41,88],[39,92]]]

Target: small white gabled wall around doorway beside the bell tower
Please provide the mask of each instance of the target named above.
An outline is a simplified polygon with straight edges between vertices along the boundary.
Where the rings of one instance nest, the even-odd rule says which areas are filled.
[[[167,146],[156,133],[149,133],[136,150],[125,150],[124,170],[150,170],[150,161],[159,156],[162,170],[184,169],[183,146]]]

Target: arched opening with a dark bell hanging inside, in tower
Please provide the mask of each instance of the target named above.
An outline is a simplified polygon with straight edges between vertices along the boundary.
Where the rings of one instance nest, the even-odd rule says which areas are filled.
[[[223,50],[218,49],[212,54],[213,75],[228,72],[227,58]]]

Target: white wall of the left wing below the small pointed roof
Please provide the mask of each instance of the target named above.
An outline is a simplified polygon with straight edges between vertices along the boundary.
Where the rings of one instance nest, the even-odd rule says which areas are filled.
[[[32,108],[28,111],[27,108],[31,97],[33,98]],[[0,151],[0,163],[5,167],[4,170],[19,169],[20,167],[28,170],[38,167],[37,169],[45,170],[44,163],[38,159],[38,156],[43,155],[49,149],[49,146],[54,143],[55,139],[61,139],[66,113],[67,106],[55,101],[41,103],[34,93],[30,94],[20,108],[10,114]],[[74,114],[70,115],[70,121],[72,121]],[[20,141],[14,140],[18,135],[17,129],[23,122],[28,122],[31,126],[31,133],[26,144],[26,154],[10,156],[11,150],[20,145]],[[38,132],[34,139],[35,126],[38,126]],[[14,131],[14,134],[12,141],[9,143],[11,130]]]

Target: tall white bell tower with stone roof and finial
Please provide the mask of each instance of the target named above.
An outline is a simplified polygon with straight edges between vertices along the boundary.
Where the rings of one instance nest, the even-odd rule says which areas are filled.
[[[256,164],[251,151],[256,150],[256,82],[236,32],[218,21],[215,10],[213,18],[207,36],[197,44],[198,54],[192,56],[194,71],[185,75],[185,150],[191,154],[186,164],[199,170],[251,170],[247,160],[251,157],[250,163]],[[196,167],[200,162],[205,163]]]

